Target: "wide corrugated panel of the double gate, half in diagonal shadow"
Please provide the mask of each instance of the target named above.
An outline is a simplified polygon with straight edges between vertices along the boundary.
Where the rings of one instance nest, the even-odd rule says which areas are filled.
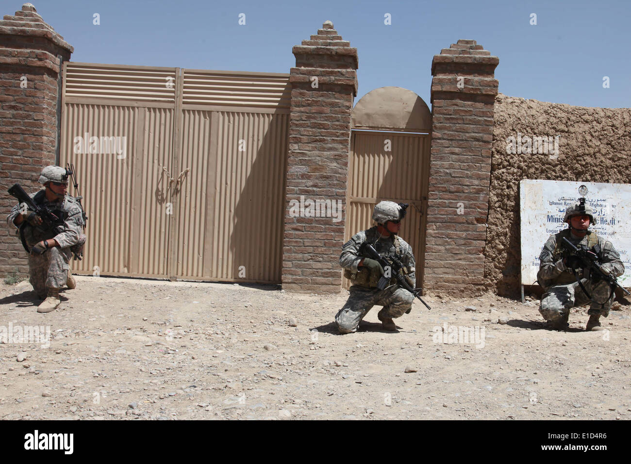
[[[218,112],[217,124],[211,276],[280,282],[289,117]]]

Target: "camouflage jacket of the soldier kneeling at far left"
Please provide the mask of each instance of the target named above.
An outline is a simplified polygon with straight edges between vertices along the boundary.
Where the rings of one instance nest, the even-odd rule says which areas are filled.
[[[61,217],[59,225],[64,229],[61,233],[56,234],[52,230],[43,230],[39,227],[32,227],[30,224],[25,226],[24,237],[28,247],[32,247],[42,240],[55,239],[61,248],[71,247],[80,242],[83,235],[83,215],[81,214],[81,206],[78,201],[70,195],[64,196],[63,200],[48,201],[44,195],[44,191],[40,190],[29,195],[38,205],[47,207],[57,217]],[[27,205],[20,203],[13,206],[11,213],[6,218],[9,227],[15,227],[15,234],[19,236],[19,228],[13,223],[20,211],[27,208]],[[21,225],[21,224],[20,224]],[[85,240],[85,239],[84,239]]]

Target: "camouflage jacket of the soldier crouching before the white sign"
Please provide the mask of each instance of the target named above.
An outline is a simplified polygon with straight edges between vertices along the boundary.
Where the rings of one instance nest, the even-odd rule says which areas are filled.
[[[620,261],[620,254],[618,254],[610,241],[591,231],[588,231],[585,237],[581,239],[572,235],[570,229],[564,229],[557,234],[550,235],[543,249],[541,249],[537,280],[544,289],[549,288],[551,285],[576,282],[574,271],[563,264],[563,258],[569,256],[570,251],[560,246],[562,237],[569,239],[576,247],[581,245],[594,251],[598,255],[599,263],[603,268],[613,272],[616,277],[623,275],[625,272],[625,266]],[[594,249],[596,244],[598,244],[600,253],[598,253],[598,249]],[[584,270],[582,277],[589,278],[587,270]]]

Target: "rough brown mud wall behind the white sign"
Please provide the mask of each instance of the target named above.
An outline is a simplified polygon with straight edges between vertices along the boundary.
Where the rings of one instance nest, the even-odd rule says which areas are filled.
[[[517,298],[521,265],[519,181],[628,184],[631,109],[577,107],[499,94],[494,114],[485,282],[497,294]],[[560,136],[558,157],[555,153],[507,153],[507,138],[517,138],[518,133]]]

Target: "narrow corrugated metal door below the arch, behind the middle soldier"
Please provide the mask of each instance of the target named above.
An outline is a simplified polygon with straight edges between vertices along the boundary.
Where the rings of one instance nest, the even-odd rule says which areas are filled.
[[[345,240],[372,227],[372,211],[379,201],[410,203],[399,235],[416,258],[417,285],[425,256],[429,150],[427,134],[353,131],[351,136]],[[343,279],[343,287],[348,286]]]

